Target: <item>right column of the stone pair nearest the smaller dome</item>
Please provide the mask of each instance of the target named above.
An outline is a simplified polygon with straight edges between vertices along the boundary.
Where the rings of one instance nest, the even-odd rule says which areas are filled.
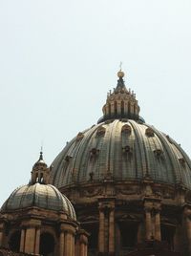
[[[109,213],[109,252],[115,252],[115,208],[111,207]]]

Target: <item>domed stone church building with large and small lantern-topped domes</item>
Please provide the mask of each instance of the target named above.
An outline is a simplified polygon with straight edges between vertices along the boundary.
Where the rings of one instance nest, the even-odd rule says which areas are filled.
[[[191,160],[117,76],[97,124],[2,205],[0,256],[191,256]]]

